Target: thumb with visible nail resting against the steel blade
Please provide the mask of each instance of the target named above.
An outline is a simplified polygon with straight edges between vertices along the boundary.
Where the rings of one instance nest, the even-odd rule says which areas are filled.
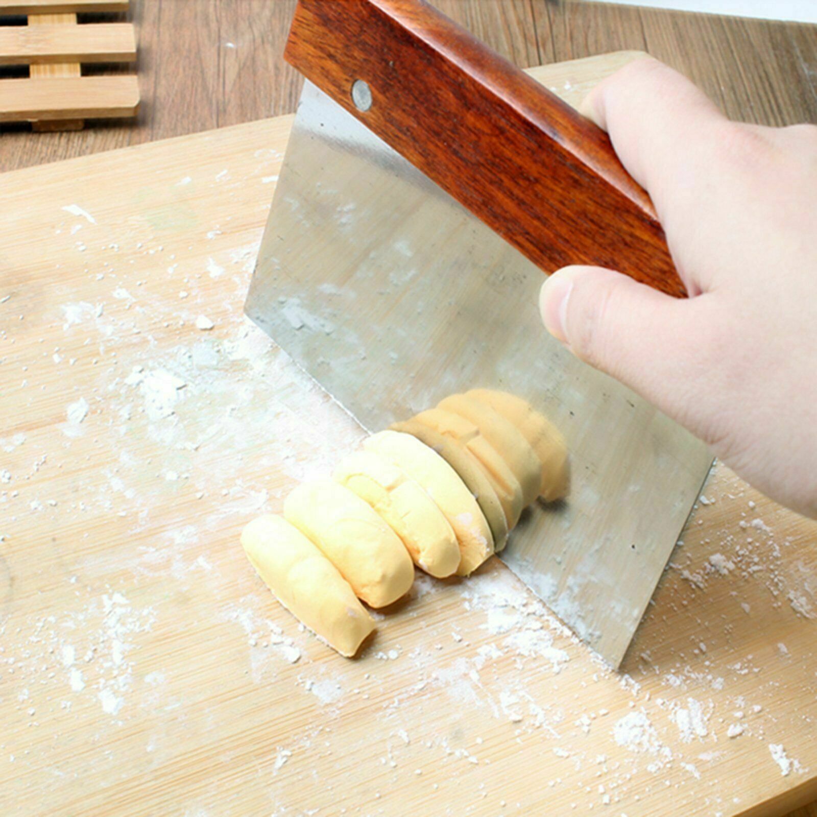
[[[542,285],[542,321],[574,355],[699,431],[696,400],[712,386],[706,296],[679,300],[626,275],[569,266]]]

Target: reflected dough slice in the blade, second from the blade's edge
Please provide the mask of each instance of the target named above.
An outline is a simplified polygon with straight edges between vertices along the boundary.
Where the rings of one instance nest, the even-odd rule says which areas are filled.
[[[445,437],[450,437],[474,455],[497,494],[508,529],[513,528],[525,507],[522,502],[522,487],[497,449],[480,434],[480,429],[465,417],[443,408],[429,408],[417,414],[414,419]]]

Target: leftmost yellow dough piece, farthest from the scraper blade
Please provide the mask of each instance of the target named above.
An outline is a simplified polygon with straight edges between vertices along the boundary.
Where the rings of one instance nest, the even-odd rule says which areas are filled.
[[[252,566],[292,615],[351,657],[374,630],[372,617],[337,568],[281,516],[245,525],[241,544]]]

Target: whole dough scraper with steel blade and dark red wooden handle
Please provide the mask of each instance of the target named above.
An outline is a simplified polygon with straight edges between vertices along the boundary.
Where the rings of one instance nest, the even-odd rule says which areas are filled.
[[[618,667],[712,458],[537,301],[567,264],[683,297],[649,197],[604,132],[420,0],[300,0],[285,56],[306,84],[247,314],[369,431],[475,387],[545,414],[569,495],[500,558]]]

